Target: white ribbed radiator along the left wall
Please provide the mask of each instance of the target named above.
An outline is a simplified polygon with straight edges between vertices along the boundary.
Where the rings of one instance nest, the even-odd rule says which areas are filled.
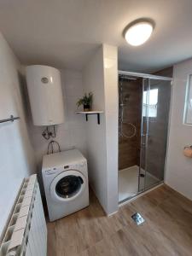
[[[0,256],[45,256],[47,227],[37,175],[24,180],[0,247]]]

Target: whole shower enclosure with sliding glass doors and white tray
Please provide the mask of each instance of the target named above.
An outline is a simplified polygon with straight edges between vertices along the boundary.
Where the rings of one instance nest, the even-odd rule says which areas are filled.
[[[119,72],[119,202],[164,180],[171,81]]]

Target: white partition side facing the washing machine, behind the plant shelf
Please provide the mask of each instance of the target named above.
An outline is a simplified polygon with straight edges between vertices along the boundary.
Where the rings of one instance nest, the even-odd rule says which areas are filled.
[[[102,47],[96,51],[83,71],[84,92],[92,92],[93,109],[105,110],[104,69]],[[107,212],[108,185],[107,185],[107,147],[106,147],[106,120],[101,114],[101,124],[97,125],[95,115],[89,116],[86,124],[86,144],[89,167],[89,181],[94,189],[103,209]]]

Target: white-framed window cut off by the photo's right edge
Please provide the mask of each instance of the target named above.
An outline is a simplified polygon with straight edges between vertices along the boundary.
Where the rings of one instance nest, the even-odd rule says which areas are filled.
[[[186,86],[183,123],[192,125],[192,74],[189,75]]]

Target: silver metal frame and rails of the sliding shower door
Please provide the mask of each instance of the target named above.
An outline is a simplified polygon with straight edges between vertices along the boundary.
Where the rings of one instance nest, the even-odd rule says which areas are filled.
[[[118,71],[118,75],[125,75],[125,76],[128,76],[128,77],[133,77],[133,78],[142,78],[143,79],[143,90],[144,90],[144,81],[145,79],[148,80],[148,88],[150,89],[150,79],[154,79],[154,80],[162,80],[162,81],[170,81],[171,82],[171,85],[172,85],[172,78],[169,78],[169,77],[164,77],[164,76],[156,76],[156,75],[153,75],[153,74],[148,74],[148,73],[135,73],[135,72],[129,72],[129,71],[122,71],[122,70],[119,70]],[[148,89],[148,96],[149,96],[149,89]],[[147,97],[148,97],[147,96]],[[142,100],[142,104],[143,104],[143,100]],[[171,104],[172,104],[172,88],[171,88],[171,101],[170,101],[170,108],[169,108],[169,115],[170,115],[170,110],[171,110]],[[147,108],[148,109],[148,108]],[[148,111],[148,110],[147,110]],[[148,114],[147,114],[147,117],[148,117]],[[169,136],[169,126],[170,124],[168,123],[168,127],[167,127],[167,138]],[[142,107],[142,122],[141,122],[141,142],[140,142],[140,145],[141,147],[143,146],[142,143],[143,143],[143,107]],[[168,139],[167,139],[168,141]],[[147,121],[147,134],[146,134],[146,137],[145,137],[145,143],[146,143],[146,147],[148,147],[148,121]],[[166,142],[167,143],[167,142]],[[166,147],[167,148],[167,147]],[[140,149],[142,150],[142,149]],[[145,152],[145,165],[146,165],[146,159],[147,159],[147,153]],[[146,172],[146,166],[145,166],[145,172]],[[155,186],[157,186],[159,183],[162,183],[163,181],[160,181],[159,183],[155,183],[153,186],[151,186],[151,188],[148,188],[148,189],[145,189],[145,182],[146,182],[146,178],[144,180],[144,189],[140,189],[140,174],[141,174],[141,152],[140,152],[140,164],[139,164],[139,173],[138,173],[138,189],[137,189],[137,195],[147,191],[148,189],[151,189]],[[131,196],[131,198],[127,198],[123,201],[120,201],[119,203],[123,203],[124,201],[129,201],[131,200],[133,197],[137,196],[137,195],[133,195]]]

